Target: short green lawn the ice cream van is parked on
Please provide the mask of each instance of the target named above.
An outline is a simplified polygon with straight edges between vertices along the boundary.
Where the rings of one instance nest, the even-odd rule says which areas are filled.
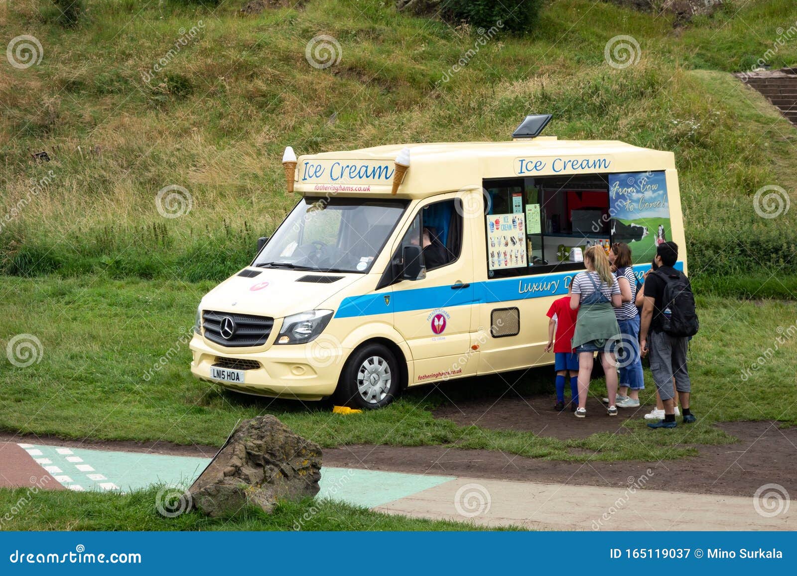
[[[12,366],[2,359],[0,429],[69,438],[173,441],[221,445],[239,418],[271,413],[323,447],[347,444],[444,445],[500,449],[552,460],[658,460],[695,455],[697,444],[732,441],[717,421],[778,420],[797,424],[791,398],[797,374],[794,306],[776,300],[699,299],[701,331],[691,345],[693,408],[700,422],[657,434],[641,420],[632,433],[595,434],[558,440],[532,433],[459,426],[436,419],[432,410],[448,402],[550,390],[552,370],[448,382],[439,389],[410,390],[397,402],[352,416],[332,414],[321,403],[253,398],[224,392],[194,379],[188,369],[186,332],[200,296],[210,283],[112,280],[104,276],[33,280],[0,277],[0,340],[35,335],[38,362]],[[782,327],[779,331],[778,327]],[[752,375],[743,370],[764,355]],[[151,370],[161,357],[161,370]],[[149,374],[149,375],[147,375]],[[654,385],[646,373],[643,402]],[[513,389],[510,388],[513,386]],[[605,394],[602,382],[591,393]],[[535,417],[529,411],[529,418]],[[575,423],[574,423],[575,425]],[[587,453],[582,450],[586,449]]]

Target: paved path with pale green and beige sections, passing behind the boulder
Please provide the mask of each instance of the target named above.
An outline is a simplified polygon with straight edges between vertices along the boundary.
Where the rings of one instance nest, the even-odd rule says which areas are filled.
[[[8,457],[6,457],[8,456]],[[0,486],[127,492],[190,485],[208,458],[0,443]],[[48,479],[48,480],[42,480]],[[538,530],[797,530],[789,501],[767,515],[752,498],[321,469],[319,498],[388,514]]]

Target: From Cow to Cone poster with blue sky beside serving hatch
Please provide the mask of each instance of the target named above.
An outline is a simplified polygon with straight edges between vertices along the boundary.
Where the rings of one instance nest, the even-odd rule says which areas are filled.
[[[626,242],[634,264],[653,261],[672,240],[664,172],[609,174],[609,215],[611,241]]]

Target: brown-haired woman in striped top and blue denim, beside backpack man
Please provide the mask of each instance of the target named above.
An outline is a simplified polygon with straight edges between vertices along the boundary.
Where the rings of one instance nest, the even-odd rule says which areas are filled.
[[[622,307],[614,308],[622,339],[617,350],[620,382],[616,406],[638,408],[639,390],[645,388],[645,378],[642,376],[642,358],[639,355],[640,318],[635,304],[637,277],[631,267],[631,249],[625,242],[617,242],[609,251],[609,261],[622,296]],[[603,398],[603,401],[611,404],[610,398]]]

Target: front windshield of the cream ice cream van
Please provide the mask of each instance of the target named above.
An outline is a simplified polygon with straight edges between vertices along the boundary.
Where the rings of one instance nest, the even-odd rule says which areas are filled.
[[[405,209],[402,200],[302,198],[253,265],[367,272]]]

